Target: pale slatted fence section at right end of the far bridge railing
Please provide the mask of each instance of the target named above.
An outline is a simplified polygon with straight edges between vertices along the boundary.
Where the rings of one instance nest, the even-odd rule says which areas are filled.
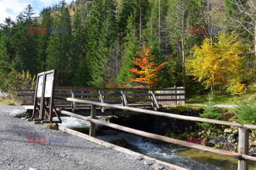
[[[185,88],[173,87],[168,90],[156,90],[155,95],[161,105],[185,105]]]

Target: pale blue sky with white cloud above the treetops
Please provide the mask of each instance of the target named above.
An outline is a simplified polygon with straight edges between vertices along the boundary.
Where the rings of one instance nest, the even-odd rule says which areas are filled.
[[[66,0],[69,4],[72,0]],[[16,16],[22,12],[28,4],[35,10],[35,16],[39,15],[39,12],[46,6],[51,6],[58,3],[59,0],[0,0],[0,23],[3,23],[4,19],[11,17],[12,20],[16,21]]]

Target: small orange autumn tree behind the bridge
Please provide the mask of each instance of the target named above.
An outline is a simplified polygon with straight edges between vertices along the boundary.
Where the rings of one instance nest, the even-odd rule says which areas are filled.
[[[136,68],[127,69],[131,71],[132,73],[135,73],[137,77],[133,77],[132,75],[129,75],[133,79],[131,81],[138,82],[141,84],[148,84],[149,88],[154,88],[156,86],[155,82],[159,81],[157,78],[157,75],[159,75],[158,70],[161,69],[167,62],[164,62],[157,66],[157,64],[154,64],[154,62],[149,62],[150,58],[153,58],[155,55],[151,55],[150,50],[152,46],[147,48],[146,44],[143,43],[141,50],[142,52],[136,52],[139,54],[140,58],[134,58],[134,64],[138,65],[140,67],[140,70]]]

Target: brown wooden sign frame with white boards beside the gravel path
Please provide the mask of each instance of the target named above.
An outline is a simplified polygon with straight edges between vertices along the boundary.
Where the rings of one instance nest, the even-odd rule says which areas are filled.
[[[37,74],[34,109],[30,121],[41,121],[41,123],[62,123],[61,118],[58,115],[58,111],[54,106],[55,77],[55,70]],[[39,98],[40,104],[38,104]],[[38,114],[39,116],[36,118]],[[52,121],[54,114],[57,116],[58,121]]]

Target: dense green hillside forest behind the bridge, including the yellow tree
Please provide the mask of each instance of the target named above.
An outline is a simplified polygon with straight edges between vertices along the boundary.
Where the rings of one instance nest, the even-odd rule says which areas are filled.
[[[134,57],[145,44],[151,62],[167,63],[155,87],[185,86],[190,95],[239,94],[255,82],[254,5],[254,0],[77,0],[44,7],[39,16],[28,5],[15,21],[0,24],[0,88],[11,88],[22,71],[52,69],[57,86],[129,83],[129,69],[140,69]]]

